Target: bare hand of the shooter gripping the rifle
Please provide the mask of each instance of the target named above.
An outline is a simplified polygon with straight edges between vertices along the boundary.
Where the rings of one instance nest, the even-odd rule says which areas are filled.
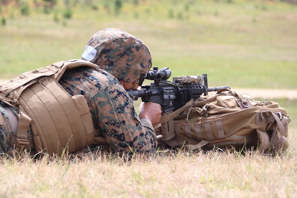
[[[139,105],[139,118],[148,119],[153,126],[156,126],[161,119],[161,105],[154,102],[142,102]]]

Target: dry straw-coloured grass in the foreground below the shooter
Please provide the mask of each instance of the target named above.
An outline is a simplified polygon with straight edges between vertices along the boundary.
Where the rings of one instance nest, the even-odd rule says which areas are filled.
[[[290,128],[289,149],[275,157],[211,151],[2,159],[0,197],[296,197],[296,131]]]

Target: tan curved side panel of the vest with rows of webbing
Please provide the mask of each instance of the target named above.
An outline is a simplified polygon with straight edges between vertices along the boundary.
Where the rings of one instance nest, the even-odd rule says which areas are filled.
[[[59,86],[48,78],[42,84],[29,86],[20,95],[19,101],[28,114],[34,115],[31,116],[34,141],[40,139],[42,145],[47,145],[47,148],[35,148],[37,151],[44,149],[46,153],[56,153],[58,149],[57,154],[61,154],[67,144],[69,152],[87,145],[83,122],[74,101]]]

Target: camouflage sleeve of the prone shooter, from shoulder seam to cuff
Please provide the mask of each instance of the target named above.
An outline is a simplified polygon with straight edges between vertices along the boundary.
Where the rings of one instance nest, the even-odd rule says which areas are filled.
[[[149,121],[139,117],[133,101],[120,83],[114,83],[91,98],[99,131],[117,151],[149,153],[156,150],[156,135]]]

